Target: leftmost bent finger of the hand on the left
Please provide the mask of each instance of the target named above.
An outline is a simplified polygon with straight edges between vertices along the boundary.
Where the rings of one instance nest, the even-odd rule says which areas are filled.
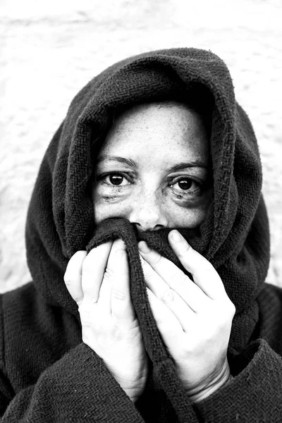
[[[77,251],[71,257],[66,267],[66,273],[63,276],[63,281],[66,283],[66,288],[71,297],[78,306],[83,300],[83,291],[81,286],[82,263],[86,257],[86,251]]]

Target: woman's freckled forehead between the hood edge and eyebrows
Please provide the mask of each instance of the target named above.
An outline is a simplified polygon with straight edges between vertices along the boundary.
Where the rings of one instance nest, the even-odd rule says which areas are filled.
[[[146,151],[145,151],[146,149]],[[116,118],[101,153],[207,155],[209,140],[199,114],[177,103],[142,104]]]

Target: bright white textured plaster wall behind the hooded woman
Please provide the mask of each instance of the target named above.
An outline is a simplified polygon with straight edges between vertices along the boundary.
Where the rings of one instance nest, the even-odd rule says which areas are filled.
[[[126,56],[202,47],[231,70],[259,140],[282,286],[282,4],[259,0],[0,1],[0,290],[29,280],[24,226],[39,163],[78,90]]]

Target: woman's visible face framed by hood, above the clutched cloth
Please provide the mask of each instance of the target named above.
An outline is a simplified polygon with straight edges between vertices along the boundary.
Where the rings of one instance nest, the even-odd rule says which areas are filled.
[[[99,152],[95,223],[123,217],[139,231],[195,228],[211,187],[202,118],[181,104],[135,106],[118,117]]]

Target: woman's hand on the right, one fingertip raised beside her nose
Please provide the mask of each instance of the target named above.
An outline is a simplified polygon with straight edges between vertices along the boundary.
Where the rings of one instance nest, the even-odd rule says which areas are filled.
[[[194,281],[141,241],[149,303],[188,396],[199,401],[232,377],[226,353],[235,306],[207,259],[176,230],[168,241]]]

